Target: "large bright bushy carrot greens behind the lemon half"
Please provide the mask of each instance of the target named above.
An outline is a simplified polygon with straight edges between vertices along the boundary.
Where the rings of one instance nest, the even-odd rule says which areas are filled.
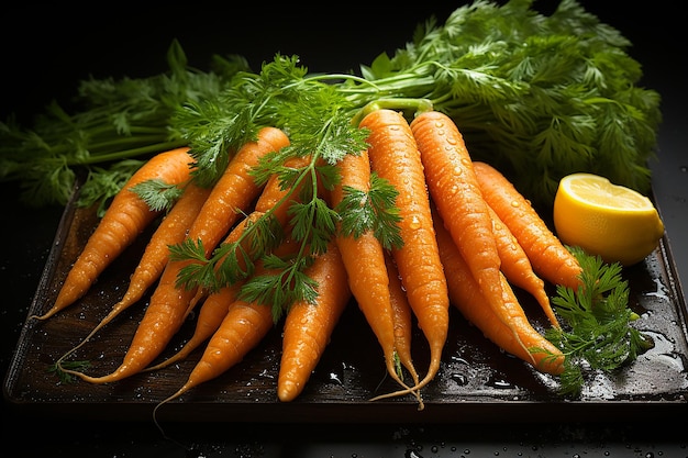
[[[661,98],[637,86],[629,41],[574,0],[548,16],[533,3],[478,0],[444,24],[429,21],[364,67],[375,87],[347,91],[360,103],[373,89],[431,100],[471,156],[499,167],[536,208],[551,208],[559,179],[581,170],[646,193]]]

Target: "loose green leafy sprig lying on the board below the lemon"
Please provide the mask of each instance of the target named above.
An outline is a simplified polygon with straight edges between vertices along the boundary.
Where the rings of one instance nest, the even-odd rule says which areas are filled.
[[[545,334],[566,355],[561,377],[564,394],[579,393],[584,369],[613,372],[654,345],[651,337],[631,325],[637,315],[628,308],[629,287],[621,266],[604,264],[580,248],[572,252],[582,267],[582,284],[578,290],[557,287],[552,303],[566,328],[552,327]]]

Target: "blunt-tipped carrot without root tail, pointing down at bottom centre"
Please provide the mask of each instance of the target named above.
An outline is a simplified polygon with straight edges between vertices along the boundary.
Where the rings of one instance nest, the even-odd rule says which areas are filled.
[[[315,303],[297,301],[288,310],[277,378],[277,396],[282,402],[293,401],[303,391],[352,295],[335,243],[304,273],[318,283],[318,298]]]

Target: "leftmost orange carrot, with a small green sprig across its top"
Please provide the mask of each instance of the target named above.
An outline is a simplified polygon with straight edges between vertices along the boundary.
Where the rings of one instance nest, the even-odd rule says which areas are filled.
[[[184,147],[155,155],[132,175],[90,235],[53,306],[34,319],[46,320],[86,294],[100,273],[159,215],[159,211],[151,210],[131,189],[149,179],[169,185],[187,181],[193,161],[188,152],[189,148]]]

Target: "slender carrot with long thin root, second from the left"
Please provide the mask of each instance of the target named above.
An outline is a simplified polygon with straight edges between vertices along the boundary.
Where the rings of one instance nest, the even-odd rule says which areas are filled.
[[[191,222],[198,214],[199,209],[206,201],[207,188],[200,188],[193,182],[189,182],[181,197],[163,219],[158,227],[151,236],[151,241],[144,249],[143,256],[131,277],[129,288],[122,299],[113,305],[112,310],[91,329],[91,332],[75,347],[63,355],[57,360],[57,366],[62,367],[62,361],[67,356],[79,349],[96,333],[110,324],[118,315],[136,303],[146,290],[160,277],[167,264],[169,250],[168,246],[179,243],[186,237]]]

